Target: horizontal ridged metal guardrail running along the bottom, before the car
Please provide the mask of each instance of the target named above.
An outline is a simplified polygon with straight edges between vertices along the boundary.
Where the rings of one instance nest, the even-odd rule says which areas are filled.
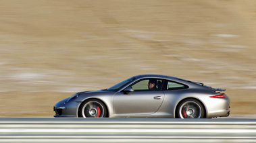
[[[256,119],[0,118],[0,142],[256,142]]]

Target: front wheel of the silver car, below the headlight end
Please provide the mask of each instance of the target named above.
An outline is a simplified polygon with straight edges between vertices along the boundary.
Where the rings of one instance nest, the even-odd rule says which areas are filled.
[[[106,117],[107,108],[98,99],[88,99],[80,106],[81,117]]]

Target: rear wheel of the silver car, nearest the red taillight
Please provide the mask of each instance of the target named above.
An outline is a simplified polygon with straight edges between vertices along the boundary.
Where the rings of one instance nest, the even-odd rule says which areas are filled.
[[[177,107],[178,118],[204,118],[205,108],[201,102],[196,99],[185,99]]]

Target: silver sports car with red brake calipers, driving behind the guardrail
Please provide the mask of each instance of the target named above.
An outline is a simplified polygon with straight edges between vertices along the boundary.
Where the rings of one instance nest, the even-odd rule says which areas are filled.
[[[137,75],[59,101],[54,117],[224,117],[230,114],[230,99],[222,91],[176,77]]]

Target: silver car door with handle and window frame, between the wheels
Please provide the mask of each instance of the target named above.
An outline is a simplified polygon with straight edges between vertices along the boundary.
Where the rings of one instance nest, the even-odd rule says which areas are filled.
[[[115,115],[136,116],[155,113],[164,99],[163,91],[161,91],[163,80],[156,80],[159,84],[155,85],[155,90],[150,90],[148,87],[150,79],[143,79],[127,87],[134,91],[116,93],[113,97]]]

